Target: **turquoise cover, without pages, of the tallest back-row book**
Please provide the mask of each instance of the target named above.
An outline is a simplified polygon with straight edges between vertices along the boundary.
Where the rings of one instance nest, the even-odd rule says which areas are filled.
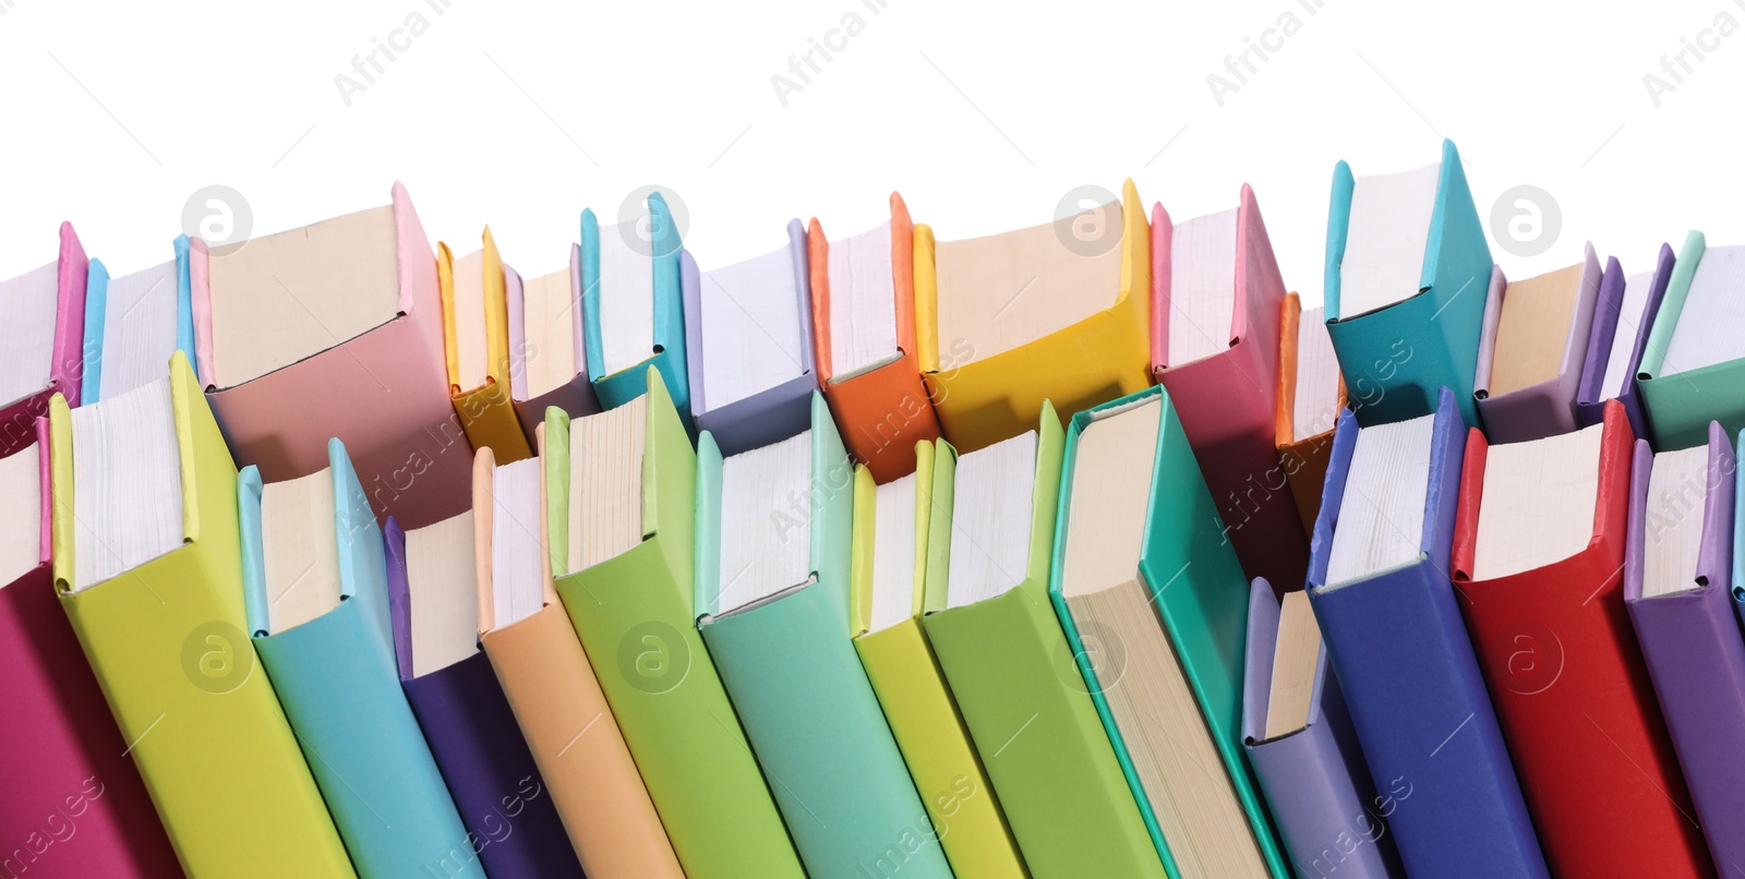
[[[1431,415],[1436,391],[1448,385],[1461,419],[1478,427],[1473,378],[1490,283],[1490,246],[1454,141],[1441,141],[1440,174],[1419,291],[1386,309],[1345,317],[1338,309],[1340,263],[1356,178],[1345,162],[1333,169],[1326,221],[1326,331],[1358,424]]]

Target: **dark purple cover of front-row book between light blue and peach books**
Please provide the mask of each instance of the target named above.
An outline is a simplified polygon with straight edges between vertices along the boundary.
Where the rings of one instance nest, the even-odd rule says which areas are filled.
[[[407,535],[389,516],[382,537],[387,542],[387,610],[394,626],[400,685],[485,872],[581,877],[576,849],[485,652],[412,677]]]

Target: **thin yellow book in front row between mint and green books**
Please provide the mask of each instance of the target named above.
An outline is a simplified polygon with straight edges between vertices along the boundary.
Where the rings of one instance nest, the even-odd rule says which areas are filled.
[[[956,699],[921,630],[934,443],[916,443],[914,473],[874,485],[855,467],[850,612],[855,652],[909,764],[939,844],[958,876],[1024,877],[1024,860],[988,783]]]

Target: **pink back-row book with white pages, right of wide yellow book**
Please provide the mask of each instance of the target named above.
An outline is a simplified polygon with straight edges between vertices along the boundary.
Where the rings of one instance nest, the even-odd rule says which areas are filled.
[[[1237,206],[1174,223],[1152,208],[1152,371],[1249,577],[1297,588],[1309,541],[1277,450],[1284,281],[1246,183]]]

